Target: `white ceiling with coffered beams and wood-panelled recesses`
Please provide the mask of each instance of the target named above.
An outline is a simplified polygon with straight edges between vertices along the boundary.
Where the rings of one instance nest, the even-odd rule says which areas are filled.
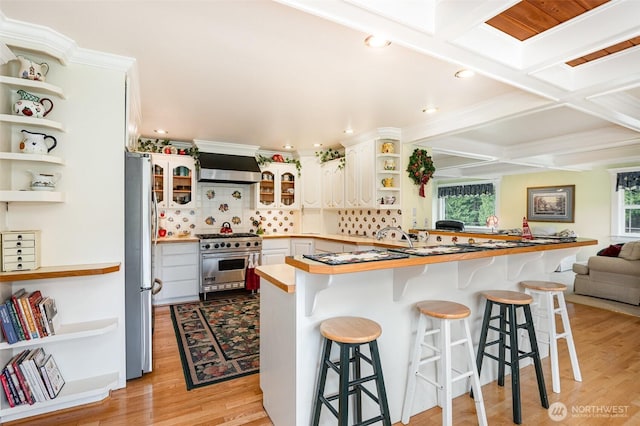
[[[440,177],[640,164],[640,1],[1,0],[136,59],[142,135],[282,150],[398,127]],[[569,9],[568,11],[566,9]],[[385,49],[363,40],[382,34]],[[477,75],[453,74],[470,68]],[[423,112],[438,108],[435,114]],[[408,147],[410,149],[410,147]]]

